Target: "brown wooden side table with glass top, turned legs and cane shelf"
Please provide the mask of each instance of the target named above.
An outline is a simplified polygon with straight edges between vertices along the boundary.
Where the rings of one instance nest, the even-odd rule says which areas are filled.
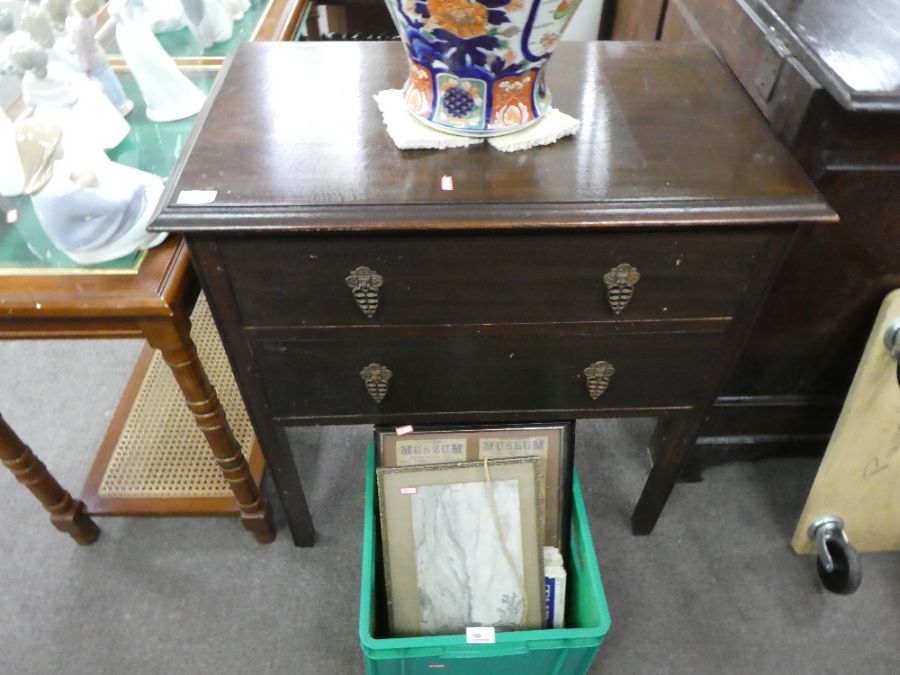
[[[235,24],[227,42],[202,49],[187,29],[166,33],[160,40],[182,72],[208,90],[223,56],[236,45],[248,40],[290,40],[307,14],[307,0],[268,0],[254,4]],[[119,54],[113,24],[105,21],[105,14],[101,14],[97,39],[110,55],[126,94],[137,103],[128,118],[132,133],[110,151],[111,159],[168,175],[196,118],[165,124],[146,119],[140,90]],[[7,103],[15,98],[0,96]],[[21,102],[13,103],[12,118],[27,114]],[[198,295],[199,284],[180,237],[146,253],[82,268],[47,240],[28,199],[0,200],[0,339],[143,338],[147,342],[94,461],[83,501],[64,490],[0,418],[0,460],[40,500],[51,522],[79,544],[92,543],[99,534],[93,515],[239,514],[257,541],[268,543],[275,538],[270,510],[258,487],[262,453],[205,302],[197,303]],[[195,330],[199,337],[192,338],[195,304],[193,317],[202,321]],[[161,360],[154,356],[156,351]],[[174,382],[166,377],[166,366]],[[224,407],[207,368],[211,374],[217,372],[220,388],[224,382]],[[181,414],[179,398],[202,434]],[[231,424],[238,422],[239,434],[226,418],[229,406]],[[162,420],[149,419],[160,412],[172,425],[164,431],[159,431]],[[148,429],[158,433],[148,434]],[[249,449],[246,457],[242,443]],[[212,451],[221,477],[206,461],[204,445]],[[119,452],[123,448],[129,457],[137,458],[140,471],[122,459],[127,454]],[[114,467],[124,467],[122,472],[129,479],[140,473],[139,480],[109,481]],[[115,489],[107,489],[107,483],[114,483]],[[171,483],[177,485],[173,488]]]

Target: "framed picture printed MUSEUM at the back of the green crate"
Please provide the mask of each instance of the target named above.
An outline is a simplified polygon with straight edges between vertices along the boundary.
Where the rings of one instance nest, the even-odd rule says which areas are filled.
[[[543,476],[544,546],[568,552],[572,515],[572,454],[575,423],[453,425],[375,428],[379,466],[403,467],[475,462],[500,457],[537,457]]]

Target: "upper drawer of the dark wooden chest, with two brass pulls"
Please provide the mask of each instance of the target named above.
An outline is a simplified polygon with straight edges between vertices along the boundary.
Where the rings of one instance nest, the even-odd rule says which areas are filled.
[[[301,327],[730,317],[766,240],[760,230],[434,233],[220,246],[244,325]]]

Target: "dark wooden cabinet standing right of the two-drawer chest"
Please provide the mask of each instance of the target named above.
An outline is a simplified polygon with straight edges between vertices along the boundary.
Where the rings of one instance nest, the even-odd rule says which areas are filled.
[[[798,238],[704,427],[697,469],[821,451],[881,300],[900,287],[898,27],[898,0],[666,4],[661,39],[717,50],[842,221]]]

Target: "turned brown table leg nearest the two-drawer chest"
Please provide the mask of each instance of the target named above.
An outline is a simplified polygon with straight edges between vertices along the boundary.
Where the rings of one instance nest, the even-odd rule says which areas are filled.
[[[259,493],[241,446],[234,437],[216,390],[209,383],[186,318],[147,324],[144,334],[151,347],[162,352],[184,394],[188,409],[228,481],[241,510],[241,522],[256,540],[268,544],[275,540],[275,525],[269,505]]]

